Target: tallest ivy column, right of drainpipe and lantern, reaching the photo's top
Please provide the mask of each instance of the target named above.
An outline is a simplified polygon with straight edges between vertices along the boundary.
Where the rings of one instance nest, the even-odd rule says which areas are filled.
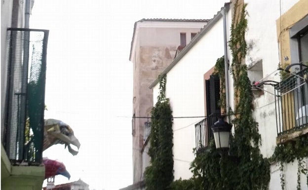
[[[269,186],[270,171],[269,160],[260,153],[261,135],[258,123],[253,117],[253,93],[251,82],[247,74],[246,64],[242,64],[247,52],[245,32],[247,19],[243,4],[240,17],[233,14],[231,25],[231,40],[229,42],[232,52],[231,74],[234,81],[234,97],[238,99],[234,112],[234,138],[230,144],[230,154],[237,157],[236,164],[238,183],[235,190],[266,190]],[[237,7],[235,2],[234,7]]]

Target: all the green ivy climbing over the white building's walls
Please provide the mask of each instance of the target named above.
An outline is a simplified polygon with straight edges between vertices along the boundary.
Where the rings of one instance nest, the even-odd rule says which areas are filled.
[[[206,152],[196,154],[191,163],[192,178],[173,180],[172,155],[172,111],[165,98],[166,78],[161,77],[160,93],[152,110],[151,166],[146,169],[145,180],[148,190],[267,190],[269,188],[269,162],[280,163],[281,188],[285,189],[284,163],[298,160],[297,190],[301,190],[301,173],[307,175],[308,186],[308,136],[280,144],[271,158],[263,158],[260,153],[261,135],[253,114],[253,93],[247,75],[245,56],[247,28],[243,0],[235,0],[231,24],[229,46],[232,53],[231,75],[234,81],[234,136],[231,136],[229,156],[221,157],[214,140],[210,141]],[[214,74],[221,79],[221,101],[226,113],[224,58],[217,59]]]

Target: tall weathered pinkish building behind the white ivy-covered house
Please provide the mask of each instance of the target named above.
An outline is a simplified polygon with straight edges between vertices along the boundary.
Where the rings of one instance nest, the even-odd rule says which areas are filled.
[[[150,158],[147,139],[153,108],[150,84],[207,24],[208,20],[142,19],[134,26],[129,60],[133,63],[133,183],[143,180]]]

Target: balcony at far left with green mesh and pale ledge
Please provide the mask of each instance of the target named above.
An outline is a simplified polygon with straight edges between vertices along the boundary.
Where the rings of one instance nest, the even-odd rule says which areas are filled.
[[[48,31],[8,28],[6,37],[1,189],[41,190]]]

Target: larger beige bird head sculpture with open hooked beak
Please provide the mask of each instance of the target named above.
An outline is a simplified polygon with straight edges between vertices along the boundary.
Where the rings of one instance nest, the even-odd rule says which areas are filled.
[[[77,155],[78,151],[74,150],[71,145],[76,146],[77,150],[80,147],[74,131],[68,124],[57,119],[45,119],[43,151],[56,144],[65,144],[65,148],[68,147],[69,152],[73,155]]]

